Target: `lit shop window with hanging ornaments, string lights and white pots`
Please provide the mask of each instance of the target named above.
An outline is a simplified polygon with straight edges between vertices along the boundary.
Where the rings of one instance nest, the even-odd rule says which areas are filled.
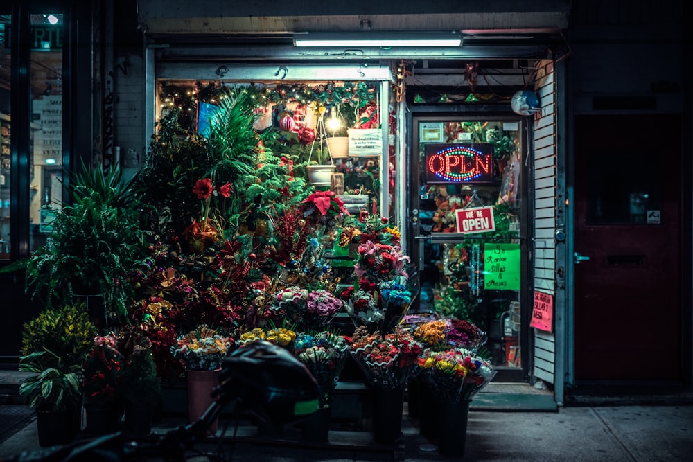
[[[308,184],[335,191],[351,213],[358,213],[374,203],[380,209],[382,200],[380,127],[382,114],[389,114],[389,108],[379,107],[379,85],[159,80],[156,116],[159,122],[173,116],[176,130],[206,136],[210,114],[220,98],[252,94],[254,130],[263,137],[263,148],[286,158],[295,175],[304,176]],[[391,123],[389,132],[394,133],[389,119],[394,118],[385,118]],[[389,146],[389,156],[394,157],[394,144]],[[316,172],[324,170],[317,166],[328,166],[326,173]],[[392,210],[392,197],[389,200],[388,210]]]

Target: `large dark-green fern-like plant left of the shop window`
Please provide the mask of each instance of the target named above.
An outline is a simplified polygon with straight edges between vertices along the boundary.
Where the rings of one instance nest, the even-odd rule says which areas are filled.
[[[140,202],[117,166],[76,175],[73,205],[51,207],[53,231],[26,263],[26,291],[51,308],[76,294],[100,294],[114,317],[134,298],[132,272],[148,263]],[[123,185],[119,187],[118,185]]]

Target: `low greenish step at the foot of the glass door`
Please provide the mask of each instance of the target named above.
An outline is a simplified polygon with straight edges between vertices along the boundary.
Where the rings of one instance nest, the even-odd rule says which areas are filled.
[[[469,406],[473,411],[555,412],[558,405],[552,390],[527,383],[491,382],[477,393]]]

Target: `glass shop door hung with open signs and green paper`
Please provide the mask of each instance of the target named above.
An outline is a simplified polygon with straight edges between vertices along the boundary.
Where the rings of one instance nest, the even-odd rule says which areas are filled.
[[[520,125],[518,119],[449,117],[414,118],[413,125],[419,312],[484,330],[499,372],[521,371],[523,364]]]

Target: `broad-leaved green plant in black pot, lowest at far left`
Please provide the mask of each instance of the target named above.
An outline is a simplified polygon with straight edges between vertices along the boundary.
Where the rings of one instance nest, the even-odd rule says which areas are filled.
[[[43,350],[19,358],[19,371],[37,373],[19,385],[19,396],[30,407],[63,411],[80,406],[81,366],[68,365],[60,356]]]

